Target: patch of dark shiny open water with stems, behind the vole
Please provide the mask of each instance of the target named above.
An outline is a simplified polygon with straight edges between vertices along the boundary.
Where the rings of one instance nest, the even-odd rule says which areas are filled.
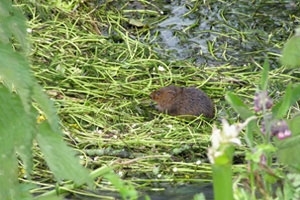
[[[277,62],[282,44],[299,25],[296,1],[172,1],[158,24],[160,51],[207,65]],[[203,4],[203,2],[206,2]],[[157,31],[156,30],[156,31]]]

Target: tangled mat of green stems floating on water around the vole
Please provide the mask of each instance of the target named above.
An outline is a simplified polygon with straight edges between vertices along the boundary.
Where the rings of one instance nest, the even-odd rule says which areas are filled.
[[[296,1],[15,2],[28,18],[32,69],[56,105],[66,141],[82,165],[111,166],[137,189],[211,181],[212,126],[239,117],[224,95],[233,91],[251,103],[266,57],[275,101],[299,81],[279,63],[300,23]],[[215,119],[158,113],[149,95],[170,84],[201,88],[216,105]],[[236,164],[243,164],[243,148]],[[54,180],[38,148],[34,156],[38,194]],[[112,190],[101,178],[96,184]]]

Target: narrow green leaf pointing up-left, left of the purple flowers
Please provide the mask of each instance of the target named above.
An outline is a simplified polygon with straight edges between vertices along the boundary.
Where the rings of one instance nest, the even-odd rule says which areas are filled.
[[[234,93],[227,92],[225,99],[243,120],[246,120],[248,117],[254,115],[253,112],[244,104],[244,102]]]

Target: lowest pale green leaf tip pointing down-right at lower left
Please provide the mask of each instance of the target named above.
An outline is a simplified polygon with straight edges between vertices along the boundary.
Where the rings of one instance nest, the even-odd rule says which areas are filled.
[[[77,185],[89,183],[92,179],[83,168],[74,151],[63,141],[62,133],[55,132],[47,121],[38,125],[37,141],[45,160],[58,180],[73,180]]]

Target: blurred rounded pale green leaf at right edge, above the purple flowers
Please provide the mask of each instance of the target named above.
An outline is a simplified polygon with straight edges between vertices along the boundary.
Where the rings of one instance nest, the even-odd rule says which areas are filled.
[[[281,62],[291,68],[300,66],[300,28],[296,29],[296,34],[289,39],[283,48]]]

